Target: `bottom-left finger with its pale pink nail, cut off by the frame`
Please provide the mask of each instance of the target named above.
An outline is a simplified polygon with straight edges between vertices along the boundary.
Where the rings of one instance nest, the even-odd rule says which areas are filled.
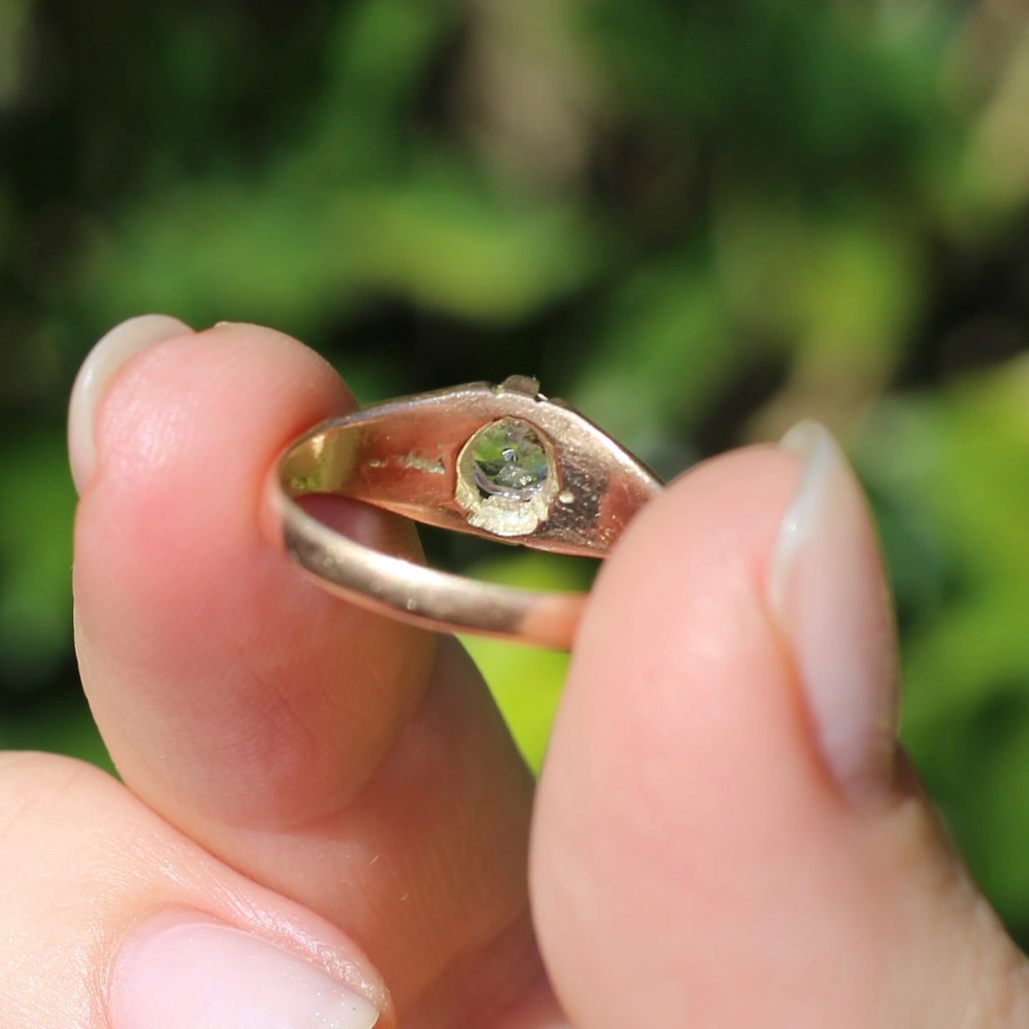
[[[5,1026],[396,1025],[351,936],[219,862],[111,776],[0,754],[0,811]]]

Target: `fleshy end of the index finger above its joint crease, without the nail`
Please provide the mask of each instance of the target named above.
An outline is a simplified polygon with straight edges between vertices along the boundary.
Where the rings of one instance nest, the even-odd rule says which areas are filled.
[[[268,543],[269,469],[353,405],[319,355],[243,324],[151,347],[105,391],[76,521],[77,647],[112,756],[151,803],[238,820],[334,809],[417,702],[432,638],[329,597]],[[335,513],[398,535],[370,509]],[[212,792],[216,776],[232,788]]]

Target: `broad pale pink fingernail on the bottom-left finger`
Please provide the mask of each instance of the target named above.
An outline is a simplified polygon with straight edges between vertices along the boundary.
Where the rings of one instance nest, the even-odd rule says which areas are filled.
[[[298,954],[212,919],[157,916],[115,962],[112,1029],[371,1029],[379,1010]]]

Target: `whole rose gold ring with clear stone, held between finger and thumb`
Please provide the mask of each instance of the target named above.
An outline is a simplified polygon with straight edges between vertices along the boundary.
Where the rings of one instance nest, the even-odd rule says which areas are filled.
[[[273,478],[289,557],[319,586],[423,628],[568,649],[583,594],[436,571],[334,532],[305,494],[555,554],[604,557],[662,490],[640,461],[533,379],[471,383],[359,409],[292,442]]]

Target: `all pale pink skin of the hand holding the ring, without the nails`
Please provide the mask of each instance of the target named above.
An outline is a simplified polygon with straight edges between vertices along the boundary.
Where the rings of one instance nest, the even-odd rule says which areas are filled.
[[[902,758],[855,790],[820,750],[761,586],[791,454],[708,462],[630,527],[535,786],[452,639],[268,538],[277,454],[354,404],[335,372],[271,329],[166,329],[73,425],[76,643],[123,785],[0,755],[3,1029],[143,1029],[119,955],[167,911],[276,942],[384,1029],[1029,1024],[1024,960]]]

